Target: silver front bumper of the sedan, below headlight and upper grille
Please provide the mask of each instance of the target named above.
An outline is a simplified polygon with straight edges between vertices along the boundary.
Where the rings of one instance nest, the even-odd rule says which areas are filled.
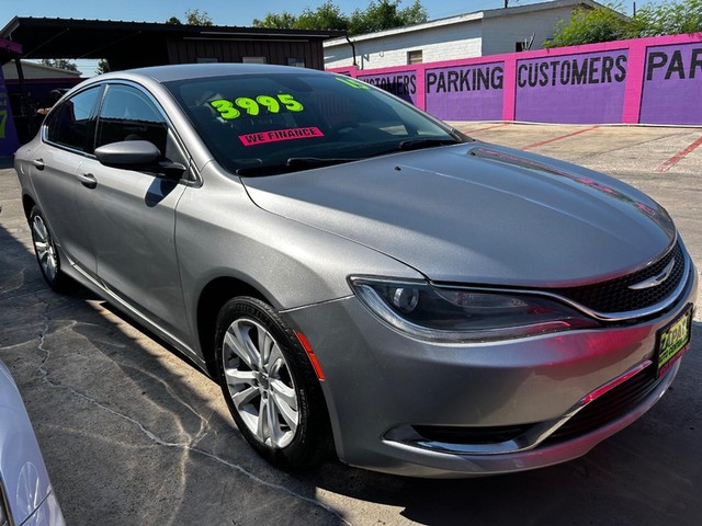
[[[587,409],[585,402],[621,381],[653,376],[656,333],[694,304],[697,287],[691,265],[678,301],[652,319],[485,344],[408,339],[355,297],[288,316],[326,375],[322,390],[341,460],[406,476],[472,477],[577,458],[650,409],[675,379],[679,362],[614,416],[555,438]],[[466,436],[472,430],[508,430],[513,436],[462,443],[420,433],[452,428],[467,430]]]

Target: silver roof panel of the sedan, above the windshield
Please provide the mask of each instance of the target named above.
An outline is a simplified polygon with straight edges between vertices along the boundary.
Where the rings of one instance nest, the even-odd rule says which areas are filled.
[[[184,79],[206,79],[231,75],[273,75],[273,73],[315,75],[316,69],[294,68],[291,66],[272,66],[267,64],[179,64],[171,66],[154,66],[107,73],[104,78],[122,76],[148,77],[157,82],[171,82]]]

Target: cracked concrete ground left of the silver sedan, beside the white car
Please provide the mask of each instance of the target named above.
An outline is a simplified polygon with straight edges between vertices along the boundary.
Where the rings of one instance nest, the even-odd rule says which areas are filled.
[[[251,450],[215,382],[84,288],[48,289],[8,211],[0,358],[68,524],[343,524]]]

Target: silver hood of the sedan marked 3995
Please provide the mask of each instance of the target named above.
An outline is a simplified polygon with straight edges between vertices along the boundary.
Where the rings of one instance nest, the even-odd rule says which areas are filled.
[[[261,208],[435,282],[584,285],[641,268],[676,236],[658,204],[620,181],[482,142],[244,182]]]

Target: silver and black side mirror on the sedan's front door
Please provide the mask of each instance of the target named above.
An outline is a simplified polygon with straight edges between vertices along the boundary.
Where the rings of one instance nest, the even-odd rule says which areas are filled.
[[[151,172],[168,179],[180,179],[185,171],[179,162],[161,161],[161,152],[148,140],[111,142],[97,148],[95,157],[105,167]]]

